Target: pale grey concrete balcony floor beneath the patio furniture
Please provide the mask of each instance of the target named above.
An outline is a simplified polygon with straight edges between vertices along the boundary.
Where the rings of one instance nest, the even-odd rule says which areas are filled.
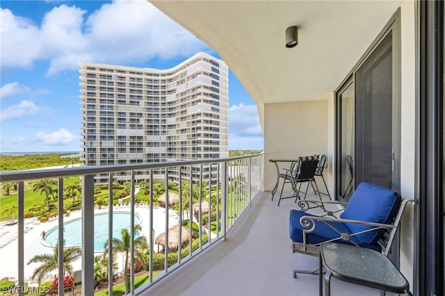
[[[280,190],[271,201],[270,192],[261,192],[227,240],[172,272],[146,295],[318,295],[318,276],[292,277],[293,269],[315,268],[318,258],[292,253],[289,211],[298,206],[294,199],[282,199],[277,206],[279,195]],[[315,198],[308,193],[307,199]],[[380,295],[380,290],[332,278],[331,295]]]

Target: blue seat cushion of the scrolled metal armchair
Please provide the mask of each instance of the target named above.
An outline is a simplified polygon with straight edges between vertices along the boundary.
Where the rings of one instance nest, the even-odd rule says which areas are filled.
[[[311,215],[309,213],[305,213],[302,211],[291,210],[290,220],[289,220],[289,236],[291,240],[293,240],[294,242],[303,242],[303,229],[305,229],[305,227],[302,227],[302,225],[300,224],[300,217],[302,216],[316,217],[316,215]],[[321,242],[325,242],[326,240],[339,238],[340,233],[351,234],[350,229],[346,227],[346,224],[344,224],[343,222],[329,222],[329,224],[335,229],[337,229],[337,231],[332,229],[332,227],[330,227],[324,222],[316,222],[315,230],[312,233],[306,234],[306,243],[309,245],[314,245],[314,244],[319,244]],[[350,237],[350,240],[355,242],[357,245],[360,245],[361,247],[374,249],[375,251],[378,252],[382,251],[382,248],[378,244],[363,245],[354,236]],[[347,245],[353,245],[351,242],[341,239],[336,240],[336,242],[345,243]]]

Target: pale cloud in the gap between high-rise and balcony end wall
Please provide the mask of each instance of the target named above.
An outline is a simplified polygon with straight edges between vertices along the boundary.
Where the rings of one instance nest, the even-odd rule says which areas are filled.
[[[262,137],[256,105],[234,105],[229,108],[229,133],[237,136]]]

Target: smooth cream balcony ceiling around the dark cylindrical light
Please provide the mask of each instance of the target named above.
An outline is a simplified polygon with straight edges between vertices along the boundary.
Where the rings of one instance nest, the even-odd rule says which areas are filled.
[[[329,99],[401,1],[149,0],[218,51],[263,104]],[[298,26],[298,46],[284,31]]]

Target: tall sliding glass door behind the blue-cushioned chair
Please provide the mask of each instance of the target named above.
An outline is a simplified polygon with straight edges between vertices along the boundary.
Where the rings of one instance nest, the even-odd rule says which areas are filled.
[[[362,182],[400,189],[400,96],[395,15],[337,91],[337,199]]]

